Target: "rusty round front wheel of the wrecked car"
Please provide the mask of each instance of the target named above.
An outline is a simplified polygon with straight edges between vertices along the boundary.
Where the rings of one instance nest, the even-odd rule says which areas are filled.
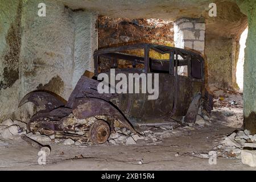
[[[90,141],[95,144],[102,144],[108,140],[110,135],[109,124],[101,119],[95,121],[90,126],[89,137]]]

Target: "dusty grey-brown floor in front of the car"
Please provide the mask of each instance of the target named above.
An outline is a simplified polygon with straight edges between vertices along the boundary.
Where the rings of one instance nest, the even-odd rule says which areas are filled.
[[[237,98],[237,97],[236,97]],[[232,97],[230,97],[232,99]],[[225,99],[228,103],[228,98]],[[224,101],[223,101],[224,102]],[[255,170],[240,159],[218,155],[217,164],[197,157],[208,153],[220,140],[242,127],[242,107],[229,104],[214,108],[212,123],[179,127],[160,143],[136,145],[64,146],[50,144],[47,164],[38,164],[38,151],[22,139],[0,139],[1,170]],[[151,128],[156,132],[158,128]],[[177,156],[177,153],[179,154]],[[176,154],[176,155],[175,155]],[[139,161],[143,161],[139,164]]]

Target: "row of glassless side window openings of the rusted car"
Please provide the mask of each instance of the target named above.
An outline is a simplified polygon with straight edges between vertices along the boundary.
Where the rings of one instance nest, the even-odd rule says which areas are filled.
[[[149,51],[146,66],[151,73],[166,73],[195,79],[203,78],[203,59],[200,56],[182,52],[179,49],[166,51],[161,47],[150,47],[147,50]],[[145,48],[139,48],[102,53],[97,56],[98,61],[96,59],[98,72],[106,72],[111,68],[145,69],[144,51]]]

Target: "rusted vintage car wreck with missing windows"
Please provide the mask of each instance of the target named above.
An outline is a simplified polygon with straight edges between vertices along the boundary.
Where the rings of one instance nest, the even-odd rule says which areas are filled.
[[[143,56],[135,55],[133,50],[142,50]],[[155,59],[152,52],[165,59]],[[125,75],[158,73],[159,97],[148,100],[148,93],[99,93],[97,86],[102,80],[97,77],[102,72],[109,75],[110,68]],[[179,73],[180,68],[187,72]],[[19,106],[33,102],[44,108],[28,122],[32,133],[101,144],[115,127],[138,133],[143,125],[193,123],[199,109],[212,109],[210,99],[205,90],[204,59],[199,53],[143,43],[95,51],[94,73],[86,71],[81,76],[66,103],[50,92],[35,91],[28,93]]]

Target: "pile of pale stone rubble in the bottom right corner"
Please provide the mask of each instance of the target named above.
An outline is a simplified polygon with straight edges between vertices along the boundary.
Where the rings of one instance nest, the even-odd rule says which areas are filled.
[[[232,133],[214,149],[222,150],[226,158],[241,159],[243,164],[256,167],[256,134],[251,135],[248,130]]]

